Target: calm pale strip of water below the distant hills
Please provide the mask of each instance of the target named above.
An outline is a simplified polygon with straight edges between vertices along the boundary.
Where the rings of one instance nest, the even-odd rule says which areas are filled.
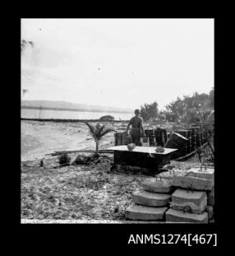
[[[21,109],[22,118],[55,118],[55,119],[98,119],[103,115],[112,115],[115,120],[129,120],[133,114],[111,112],[82,112],[67,110],[29,110]]]

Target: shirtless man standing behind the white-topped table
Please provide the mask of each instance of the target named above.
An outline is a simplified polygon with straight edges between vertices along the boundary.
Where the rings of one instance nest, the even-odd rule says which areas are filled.
[[[139,117],[139,110],[134,110],[134,118],[129,120],[129,123],[126,128],[126,133],[128,134],[129,126],[132,125],[131,129],[131,142],[134,143],[136,146],[141,146],[140,138],[145,136],[144,128],[142,125],[142,118]]]

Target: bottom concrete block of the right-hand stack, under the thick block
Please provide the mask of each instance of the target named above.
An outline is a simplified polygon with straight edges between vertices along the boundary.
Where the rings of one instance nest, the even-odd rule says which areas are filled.
[[[195,214],[169,209],[165,213],[165,218],[166,222],[208,223],[208,213],[206,211],[201,214]]]

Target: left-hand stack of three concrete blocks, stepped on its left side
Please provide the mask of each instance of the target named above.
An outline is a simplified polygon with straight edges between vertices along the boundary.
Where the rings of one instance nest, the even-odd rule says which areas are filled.
[[[126,219],[165,221],[165,212],[170,207],[172,184],[167,179],[149,178],[143,189],[132,195],[132,204],[126,208]]]

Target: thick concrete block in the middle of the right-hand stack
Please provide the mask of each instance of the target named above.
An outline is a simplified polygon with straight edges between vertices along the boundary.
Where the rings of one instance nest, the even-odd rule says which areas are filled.
[[[207,195],[204,191],[187,191],[178,189],[172,193],[171,208],[189,213],[203,213],[207,206]]]

